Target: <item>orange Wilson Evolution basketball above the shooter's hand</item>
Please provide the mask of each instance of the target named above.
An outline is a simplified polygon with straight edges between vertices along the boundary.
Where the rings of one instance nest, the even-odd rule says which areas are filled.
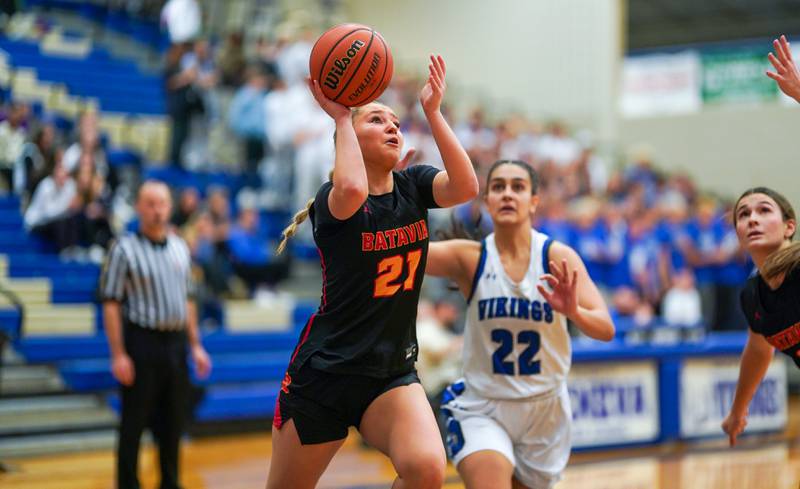
[[[341,24],[319,36],[311,49],[309,70],[325,96],[358,107],[386,90],[394,64],[389,45],[375,29]]]

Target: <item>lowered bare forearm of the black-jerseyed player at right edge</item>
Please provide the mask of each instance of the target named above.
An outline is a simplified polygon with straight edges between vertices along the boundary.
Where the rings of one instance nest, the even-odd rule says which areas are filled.
[[[767,343],[762,335],[750,331],[742,352],[739,382],[736,384],[733,405],[728,417],[722,422],[722,430],[728,434],[731,446],[736,445],[736,437],[747,426],[747,407],[758,390],[758,384],[767,373],[774,351],[772,345]]]

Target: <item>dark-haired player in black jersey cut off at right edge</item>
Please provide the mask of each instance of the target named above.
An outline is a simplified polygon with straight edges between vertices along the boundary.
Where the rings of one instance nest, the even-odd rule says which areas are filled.
[[[774,349],[800,366],[800,243],[792,243],[797,230],[794,209],[770,188],[751,188],[736,201],[733,224],[758,273],[747,281],[741,295],[750,331],[733,405],[722,423],[731,446],[747,425],[747,407]]]

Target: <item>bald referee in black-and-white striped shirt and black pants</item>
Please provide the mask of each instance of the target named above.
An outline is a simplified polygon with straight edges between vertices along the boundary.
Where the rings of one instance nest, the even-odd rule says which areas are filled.
[[[178,452],[188,413],[187,343],[199,377],[211,370],[200,343],[186,243],[168,230],[169,188],[149,180],[139,190],[139,231],[117,241],[100,282],[111,372],[121,384],[117,487],[138,489],[142,431],[158,444],[161,489],[177,489]],[[188,342],[187,342],[188,340]]]

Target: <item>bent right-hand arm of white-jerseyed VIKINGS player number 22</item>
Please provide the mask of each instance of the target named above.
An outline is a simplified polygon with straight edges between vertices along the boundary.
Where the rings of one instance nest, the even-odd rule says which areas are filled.
[[[539,284],[539,292],[555,311],[569,318],[584,334],[611,341],[614,323],[581,257],[559,242],[550,246],[549,255],[550,273],[542,275],[542,280],[551,290]]]

